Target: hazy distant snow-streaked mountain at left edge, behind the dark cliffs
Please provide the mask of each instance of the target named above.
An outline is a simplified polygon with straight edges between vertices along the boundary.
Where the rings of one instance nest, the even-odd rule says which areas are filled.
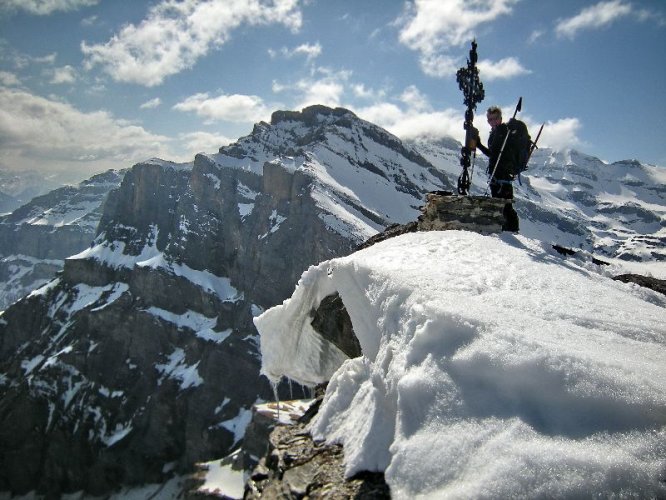
[[[0,217],[0,310],[53,279],[66,257],[90,244],[106,195],[123,174],[57,188]]]

